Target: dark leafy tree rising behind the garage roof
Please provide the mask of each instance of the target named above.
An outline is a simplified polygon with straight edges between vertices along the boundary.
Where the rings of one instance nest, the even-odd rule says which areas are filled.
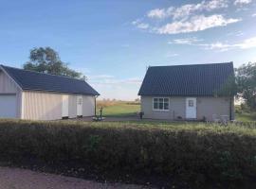
[[[31,70],[52,75],[82,78],[82,73],[67,67],[59,54],[50,47],[39,47],[30,50],[29,60],[24,64],[25,70]]]

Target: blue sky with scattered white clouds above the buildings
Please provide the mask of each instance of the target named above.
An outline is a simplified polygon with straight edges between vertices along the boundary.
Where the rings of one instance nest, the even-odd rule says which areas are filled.
[[[134,100],[148,66],[256,61],[256,1],[0,0],[0,63],[40,46],[100,98]]]

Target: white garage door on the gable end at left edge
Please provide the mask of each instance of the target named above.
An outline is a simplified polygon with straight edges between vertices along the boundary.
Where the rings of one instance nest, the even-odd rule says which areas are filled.
[[[16,95],[0,94],[0,118],[16,117]]]

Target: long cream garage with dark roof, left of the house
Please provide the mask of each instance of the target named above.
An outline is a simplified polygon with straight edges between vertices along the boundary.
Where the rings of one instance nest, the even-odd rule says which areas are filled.
[[[82,79],[0,65],[0,118],[57,120],[93,116],[98,95]]]

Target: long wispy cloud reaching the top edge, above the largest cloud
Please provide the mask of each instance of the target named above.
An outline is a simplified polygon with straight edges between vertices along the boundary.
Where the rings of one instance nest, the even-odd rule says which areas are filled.
[[[228,0],[202,1],[198,4],[186,4],[178,8],[170,7],[168,9],[152,9],[148,11],[149,18],[163,19],[173,17],[174,19],[184,18],[196,11],[211,11],[213,9],[228,8]]]

